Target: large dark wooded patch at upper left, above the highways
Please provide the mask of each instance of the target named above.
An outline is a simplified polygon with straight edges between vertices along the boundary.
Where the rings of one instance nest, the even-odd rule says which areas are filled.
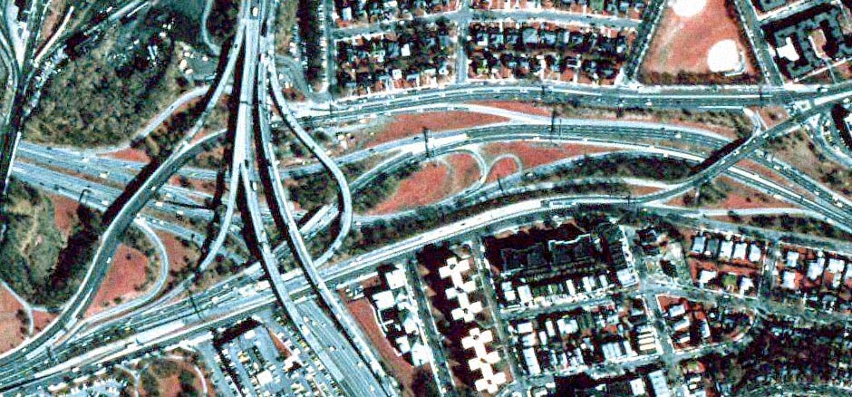
[[[74,48],[26,121],[27,139],[74,146],[128,140],[185,83],[175,43],[154,28],[162,22],[161,15],[150,15],[136,26],[132,34],[140,44],[124,43],[128,32],[113,28],[100,42]]]

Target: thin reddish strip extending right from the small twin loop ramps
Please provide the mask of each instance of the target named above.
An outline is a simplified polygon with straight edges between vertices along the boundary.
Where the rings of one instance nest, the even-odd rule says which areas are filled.
[[[514,141],[506,143],[489,143],[482,148],[483,154],[497,157],[501,154],[512,153],[523,162],[524,169],[531,169],[543,164],[616,149],[592,145],[553,145],[547,142]]]

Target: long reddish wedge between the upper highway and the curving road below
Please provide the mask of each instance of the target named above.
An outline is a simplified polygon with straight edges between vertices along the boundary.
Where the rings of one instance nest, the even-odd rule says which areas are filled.
[[[384,127],[384,130],[376,133],[367,143],[367,146],[375,146],[393,140],[408,138],[412,135],[418,135],[423,133],[424,128],[429,131],[450,131],[503,121],[508,121],[508,119],[470,111],[433,111],[402,114],[396,116],[391,123]]]

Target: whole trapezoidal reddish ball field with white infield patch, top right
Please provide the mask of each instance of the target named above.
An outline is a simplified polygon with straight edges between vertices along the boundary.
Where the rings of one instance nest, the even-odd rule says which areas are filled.
[[[702,11],[693,16],[681,16],[672,8],[666,9],[645,56],[643,80],[654,83],[691,82],[691,78],[695,82],[756,80],[757,69],[749,43],[742,36],[736,11],[729,3],[729,0],[707,0]],[[736,56],[740,57],[741,65],[744,63],[740,77],[727,78],[712,70],[711,63],[720,62],[718,56],[710,59],[711,52],[719,54],[721,47],[717,44],[736,47],[739,52]]]

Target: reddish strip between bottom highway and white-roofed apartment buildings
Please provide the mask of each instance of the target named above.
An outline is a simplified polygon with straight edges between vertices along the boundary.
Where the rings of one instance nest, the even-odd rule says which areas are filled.
[[[356,299],[346,303],[349,311],[352,313],[358,324],[361,324],[364,334],[370,338],[371,344],[379,350],[382,355],[382,361],[388,365],[393,377],[402,384],[405,394],[408,396],[416,395],[411,390],[411,380],[414,375],[414,367],[405,361],[401,355],[397,355],[396,349],[393,348],[391,342],[384,337],[382,329],[376,323],[375,315],[373,314],[373,306],[366,298]]]

